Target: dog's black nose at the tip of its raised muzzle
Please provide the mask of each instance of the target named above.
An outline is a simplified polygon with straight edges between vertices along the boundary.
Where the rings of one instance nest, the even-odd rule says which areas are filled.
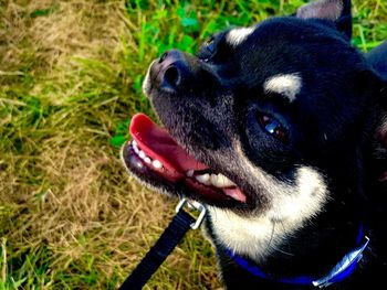
[[[189,77],[189,66],[182,52],[171,50],[164,53],[158,60],[158,73],[161,88],[169,90],[184,89]]]

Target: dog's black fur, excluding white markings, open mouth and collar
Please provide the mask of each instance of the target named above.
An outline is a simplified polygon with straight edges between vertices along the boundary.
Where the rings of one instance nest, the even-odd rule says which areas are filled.
[[[332,2],[338,3],[339,11],[308,11],[318,6],[333,9]],[[310,13],[316,18],[308,18]],[[387,273],[387,192],[378,174],[386,168],[386,158],[376,158],[375,150],[379,146],[385,153],[377,131],[385,126],[387,45],[366,57],[353,47],[351,1],[338,0],[318,1],[294,17],[263,21],[236,46],[227,41],[228,33],[216,34],[196,56],[168,52],[150,68],[146,88],[170,135],[247,195],[245,204],[208,203],[230,207],[247,218],[264,215],[272,205],[262,184],[238,160],[234,140],[240,141],[252,164],[285,184],[295,184],[300,165],[317,169],[330,193],[324,208],[286,237],[280,250],[263,261],[251,258],[251,262],[273,276],[322,277],[356,246],[363,223],[369,248],[358,269],[328,289],[383,286]],[[294,101],[264,92],[264,82],[280,74],[301,76],[301,92]],[[260,114],[275,118],[286,139],[264,131]],[[147,182],[165,187],[156,179]],[[186,192],[171,184],[167,191]],[[202,201],[195,193],[188,195]],[[228,289],[308,289],[250,275],[226,255],[224,243],[212,230],[211,216],[207,227]]]

